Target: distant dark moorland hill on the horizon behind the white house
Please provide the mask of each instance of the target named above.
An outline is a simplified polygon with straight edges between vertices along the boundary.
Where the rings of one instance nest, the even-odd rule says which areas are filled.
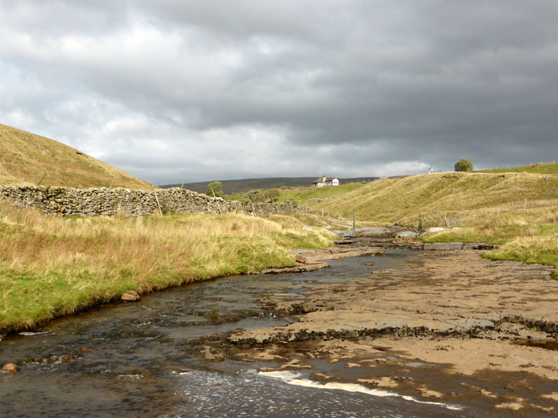
[[[269,177],[269,178],[244,178],[241,180],[218,180],[223,183],[223,192],[225,194],[233,193],[246,193],[250,190],[255,189],[278,189],[281,186],[291,187],[308,187],[311,185],[312,181],[316,180],[316,177]],[[368,180],[375,180],[376,177],[366,177],[366,178],[340,178],[342,185],[345,183],[363,183],[368,182]],[[215,181],[215,180],[211,180]],[[198,193],[205,193],[207,185],[211,181],[201,181],[198,183],[184,183],[184,188],[188,190],[193,190]],[[163,189],[167,187],[181,187],[181,184],[176,185],[164,185],[160,186]]]

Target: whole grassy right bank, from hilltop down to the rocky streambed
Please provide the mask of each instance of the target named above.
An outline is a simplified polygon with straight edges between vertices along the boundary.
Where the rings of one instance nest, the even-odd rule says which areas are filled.
[[[446,219],[457,219],[461,229],[422,239],[488,242],[502,247],[485,254],[487,258],[558,266],[558,176],[544,180],[545,173],[556,169],[557,164],[545,164],[529,168],[530,173],[390,178],[309,206],[314,214],[324,210],[345,220],[352,220],[354,211],[359,224],[418,226],[421,215],[423,226],[444,226]],[[553,277],[558,279],[558,269]]]

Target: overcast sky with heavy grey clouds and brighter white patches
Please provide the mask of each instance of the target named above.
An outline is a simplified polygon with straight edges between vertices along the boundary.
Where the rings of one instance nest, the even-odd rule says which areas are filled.
[[[0,0],[0,123],[144,180],[558,159],[558,1]]]

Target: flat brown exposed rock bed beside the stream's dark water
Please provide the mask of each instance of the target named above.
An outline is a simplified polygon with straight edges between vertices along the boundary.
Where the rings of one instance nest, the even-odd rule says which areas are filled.
[[[558,281],[552,268],[423,251],[407,268],[262,304],[298,322],[239,332],[230,355],[331,373],[494,415],[558,415]],[[331,256],[330,256],[331,257]],[[489,415],[490,416],[490,415]]]

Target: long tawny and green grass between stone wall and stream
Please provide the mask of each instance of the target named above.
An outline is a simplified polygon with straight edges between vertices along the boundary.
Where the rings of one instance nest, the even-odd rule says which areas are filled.
[[[332,245],[317,217],[172,214],[47,217],[0,202],[0,332],[168,286],[294,265],[289,249]],[[257,278],[255,277],[255,280]]]

